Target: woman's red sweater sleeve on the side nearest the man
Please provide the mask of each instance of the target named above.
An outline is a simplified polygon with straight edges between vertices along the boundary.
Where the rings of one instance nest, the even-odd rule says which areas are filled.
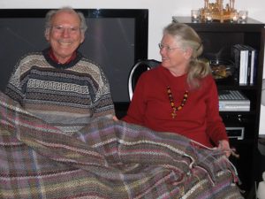
[[[145,73],[140,75],[137,85],[133,92],[133,98],[130,103],[126,116],[122,119],[125,122],[144,126],[145,110],[147,103],[145,102],[145,87],[146,87]]]

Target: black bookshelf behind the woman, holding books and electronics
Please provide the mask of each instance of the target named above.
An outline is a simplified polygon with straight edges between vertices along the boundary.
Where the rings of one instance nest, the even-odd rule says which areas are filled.
[[[220,58],[234,61],[231,47],[235,44],[248,45],[258,54],[256,78],[252,84],[241,84],[239,80],[228,78],[216,80],[218,91],[235,90],[242,93],[250,101],[249,111],[220,111],[225,126],[243,127],[242,139],[231,138],[231,147],[237,149],[239,159],[231,157],[231,162],[237,167],[242,184],[239,188],[246,191],[244,196],[249,198],[253,193],[254,182],[258,179],[256,158],[259,137],[261,111],[261,84],[264,55],[264,24],[248,18],[244,23],[230,22],[193,22],[190,17],[173,16],[173,21],[186,23],[201,36],[204,45],[203,57],[208,59]]]

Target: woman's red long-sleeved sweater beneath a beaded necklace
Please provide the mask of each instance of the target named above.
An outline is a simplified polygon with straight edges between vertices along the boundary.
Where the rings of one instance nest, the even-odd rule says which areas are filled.
[[[212,76],[201,80],[201,88],[189,91],[186,104],[177,111],[175,119],[171,117],[167,86],[170,86],[174,103],[178,106],[187,89],[186,75],[174,77],[161,65],[143,73],[123,120],[159,132],[182,134],[208,147],[213,147],[210,140],[216,146],[218,141],[228,140],[219,115],[218,94]]]

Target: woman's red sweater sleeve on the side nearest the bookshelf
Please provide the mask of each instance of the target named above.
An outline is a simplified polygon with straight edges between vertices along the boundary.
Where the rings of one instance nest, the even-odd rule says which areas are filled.
[[[211,141],[218,146],[218,142],[221,140],[227,140],[225,126],[223,119],[219,115],[219,100],[216,88],[216,82],[213,78],[208,79],[208,106],[207,106],[207,130],[206,133],[210,137]]]

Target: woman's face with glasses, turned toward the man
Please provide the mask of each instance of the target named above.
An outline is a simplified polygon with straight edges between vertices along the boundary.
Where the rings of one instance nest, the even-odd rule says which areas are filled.
[[[180,48],[176,38],[170,34],[164,34],[160,44],[160,54],[162,57],[163,67],[175,71],[179,74],[186,73],[187,66],[190,62],[191,50]]]

